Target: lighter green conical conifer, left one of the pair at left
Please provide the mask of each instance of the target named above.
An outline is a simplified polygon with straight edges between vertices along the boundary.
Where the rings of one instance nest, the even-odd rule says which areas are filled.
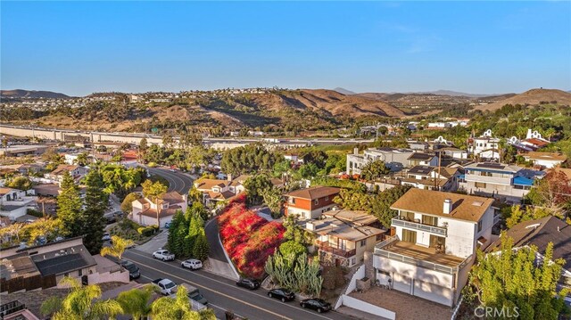
[[[70,172],[63,174],[61,193],[57,197],[57,217],[62,219],[65,233],[71,237],[83,234],[81,198]]]

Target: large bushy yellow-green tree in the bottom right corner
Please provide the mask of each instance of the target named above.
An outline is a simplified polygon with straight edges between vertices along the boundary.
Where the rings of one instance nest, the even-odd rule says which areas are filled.
[[[467,302],[500,309],[517,307],[521,319],[557,319],[565,309],[567,290],[556,291],[565,260],[553,258],[552,242],[539,265],[537,253],[534,245],[515,250],[505,233],[500,250],[485,256],[478,250],[478,264],[472,267],[464,290]]]

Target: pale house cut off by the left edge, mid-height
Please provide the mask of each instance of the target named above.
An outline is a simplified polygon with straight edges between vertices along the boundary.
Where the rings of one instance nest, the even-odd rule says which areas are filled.
[[[0,187],[0,216],[15,221],[27,214],[28,209],[37,209],[34,191]]]

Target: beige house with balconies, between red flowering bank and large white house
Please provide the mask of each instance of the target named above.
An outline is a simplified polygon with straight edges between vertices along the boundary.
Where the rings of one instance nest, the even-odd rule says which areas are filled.
[[[324,216],[307,221],[305,228],[316,235],[319,260],[337,267],[363,262],[365,251],[373,251],[386,232],[370,226],[378,220],[364,211],[331,210]]]

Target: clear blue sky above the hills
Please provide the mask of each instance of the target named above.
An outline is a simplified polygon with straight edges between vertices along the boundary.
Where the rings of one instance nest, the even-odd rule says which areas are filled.
[[[571,89],[571,2],[5,2],[0,86]]]

